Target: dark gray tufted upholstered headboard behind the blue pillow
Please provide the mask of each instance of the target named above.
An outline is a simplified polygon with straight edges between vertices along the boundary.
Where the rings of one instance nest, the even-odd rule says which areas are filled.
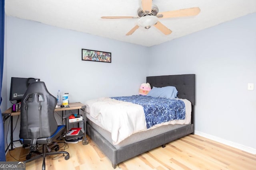
[[[189,100],[193,106],[196,104],[196,74],[149,76],[146,82],[151,88],[175,86],[179,92],[178,98]]]

